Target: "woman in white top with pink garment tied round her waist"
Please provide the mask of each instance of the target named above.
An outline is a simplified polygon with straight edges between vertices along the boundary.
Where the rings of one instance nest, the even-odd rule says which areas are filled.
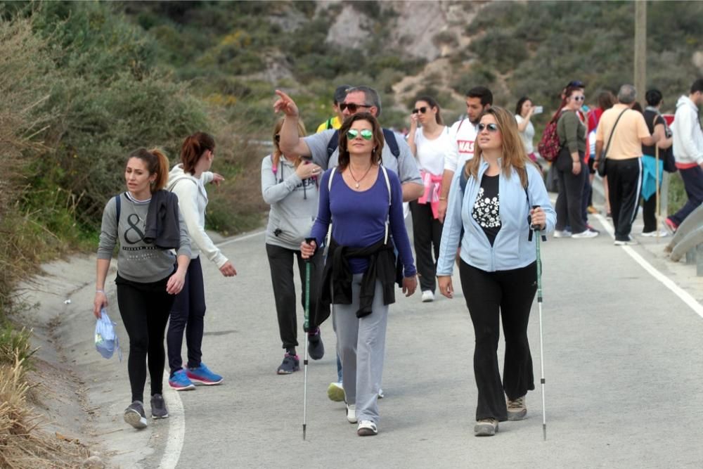
[[[418,257],[418,276],[423,302],[434,300],[437,283],[439,242],[442,224],[439,220],[439,194],[444,173],[444,155],[451,151],[449,129],[442,122],[439,103],[430,96],[420,96],[410,116],[408,146],[418,160],[425,193],[410,203],[413,214],[413,238]],[[432,258],[434,252],[434,259]]]

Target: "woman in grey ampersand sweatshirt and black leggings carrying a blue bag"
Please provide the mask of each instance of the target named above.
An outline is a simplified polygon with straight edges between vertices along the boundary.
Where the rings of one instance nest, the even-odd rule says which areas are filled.
[[[188,229],[177,210],[176,195],[162,191],[169,174],[169,160],[159,150],[139,148],[129,155],[124,179],[127,192],[108,200],[103,211],[103,224],[98,247],[96,293],[93,314],[101,317],[101,310],[108,306],[105,279],[110,269],[112,250],[117,243],[117,306],[124,328],[129,335],[129,384],[131,400],[124,411],[124,421],[134,428],[146,427],[144,413],[144,385],[146,384],[147,357],[151,381],[151,416],[169,416],[162,397],[164,373],[164,331],[174,296],[183,288],[188,263],[191,262],[191,243]],[[176,226],[178,240],[176,252],[159,248],[145,239],[147,219],[154,205],[153,199],[167,200],[169,207],[161,226]],[[169,219],[170,217],[170,219]],[[175,219],[178,217],[178,219]],[[177,263],[177,266],[176,266]]]

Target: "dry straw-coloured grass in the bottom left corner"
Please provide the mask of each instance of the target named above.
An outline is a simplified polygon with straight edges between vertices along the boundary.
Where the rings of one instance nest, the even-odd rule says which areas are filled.
[[[41,430],[42,418],[27,404],[30,385],[23,361],[0,366],[0,468],[75,468],[89,456],[77,440]]]

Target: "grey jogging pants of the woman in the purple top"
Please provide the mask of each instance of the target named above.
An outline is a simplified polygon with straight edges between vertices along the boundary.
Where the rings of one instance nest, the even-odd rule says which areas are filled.
[[[356,317],[362,276],[355,274],[352,279],[352,304],[335,304],[334,320],[347,404],[356,404],[356,418],[360,422],[371,420],[378,424],[378,390],[383,374],[388,306],[383,304],[382,286],[376,281],[373,313]]]

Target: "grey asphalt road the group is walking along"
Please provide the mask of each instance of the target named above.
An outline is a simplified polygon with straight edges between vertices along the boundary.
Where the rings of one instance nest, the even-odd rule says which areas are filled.
[[[647,258],[645,246],[632,249]],[[203,360],[224,384],[179,393],[184,416],[172,410],[169,430],[158,424],[163,433],[184,422],[182,446],[178,435],[150,439],[141,467],[165,458],[177,468],[703,467],[703,318],[607,233],[543,244],[546,441],[536,303],[528,418],[501,423],[496,437],[473,436],[474,338],[458,273],[453,300],[399,295],[390,309],[377,437],[357,437],[344,405],[327,398],[335,338],[323,325],[327,352],[308,368],[303,441],[303,373],[276,375],[283,350],[263,235],[223,250],[238,276],[205,264]],[[701,283],[692,285],[700,301]]]

